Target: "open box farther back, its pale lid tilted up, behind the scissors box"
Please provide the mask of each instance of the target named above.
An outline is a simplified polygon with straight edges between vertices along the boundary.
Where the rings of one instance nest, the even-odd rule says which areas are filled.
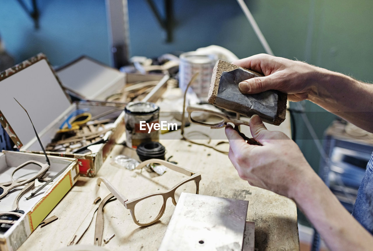
[[[93,58],[81,56],[72,62],[56,69],[65,92],[85,101],[106,102],[110,96],[123,92],[126,84],[158,81],[150,95],[144,101],[155,102],[166,90],[168,74],[162,73],[122,73],[106,66]],[[126,93],[119,100],[111,102],[125,103]]]

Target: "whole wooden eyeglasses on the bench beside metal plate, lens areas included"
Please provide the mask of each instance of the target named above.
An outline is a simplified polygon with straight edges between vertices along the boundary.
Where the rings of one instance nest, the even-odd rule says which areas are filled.
[[[148,194],[132,200],[128,200],[126,197],[124,197],[123,194],[121,194],[105,178],[97,179],[98,185],[103,182],[110,193],[112,193],[117,198],[117,200],[119,200],[120,203],[126,207],[126,209],[129,209],[132,219],[139,226],[148,226],[157,222],[157,220],[162,217],[164,210],[166,209],[166,201],[168,200],[168,198],[171,198],[172,203],[176,206],[176,203],[178,202],[178,199],[182,192],[198,194],[199,184],[201,181],[200,174],[182,168],[181,166],[175,165],[173,163],[163,161],[161,159],[149,159],[147,161],[141,162],[135,169],[142,169],[143,167],[151,163],[164,165],[173,171],[188,176],[188,178],[184,179],[184,181],[179,182],[179,184],[175,185],[173,188],[162,193]]]

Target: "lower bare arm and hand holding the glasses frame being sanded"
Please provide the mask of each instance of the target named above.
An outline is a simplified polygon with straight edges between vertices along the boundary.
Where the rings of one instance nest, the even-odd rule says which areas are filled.
[[[254,139],[247,144],[230,126],[229,159],[249,184],[292,198],[315,226],[330,250],[371,250],[370,235],[339,203],[285,134],[268,131],[257,115],[250,120]]]

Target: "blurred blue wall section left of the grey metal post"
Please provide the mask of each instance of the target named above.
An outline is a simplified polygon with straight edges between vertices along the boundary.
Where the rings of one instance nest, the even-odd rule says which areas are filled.
[[[22,0],[31,9],[31,0]],[[16,0],[0,0],[0,37],[16,62],[37,53],[53,65],[85,54],[109,64],[103,0],[37,0],[40,29]]]

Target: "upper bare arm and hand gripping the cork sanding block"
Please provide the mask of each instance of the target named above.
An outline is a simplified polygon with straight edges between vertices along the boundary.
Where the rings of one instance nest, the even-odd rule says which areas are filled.
[[[373,132],[371,84],[304,62],[266,54],[244,58],[233,64],[265,76],[241,82],[239,89],[242,93],[279,90],[288,93],[290,101],[308,99],[358,127]]]

